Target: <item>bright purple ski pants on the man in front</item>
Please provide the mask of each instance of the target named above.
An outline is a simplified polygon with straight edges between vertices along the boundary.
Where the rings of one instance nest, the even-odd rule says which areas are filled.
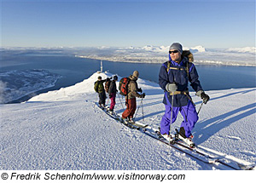
[[[172,123],[175,122],[177,118],[178,112],[183,115],[183,122],[180,127],[183,127],[186,132],[186,136],[189,137],[192,129],[195,127],[195,123],[198,121],[198,115],[195,110],[195,106],[189,101],[187,106],[166,106],[165,115],[162,117],[160,123],[160,133],[161,134],[169,134],[170,131],[170,122],[171,122],[171,112],[172,112]]]

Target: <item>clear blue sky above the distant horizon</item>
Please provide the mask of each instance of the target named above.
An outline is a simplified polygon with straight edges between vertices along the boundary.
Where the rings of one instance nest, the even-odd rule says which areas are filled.
[[[2,46],[255,46],[255,2],[15,1],[1,3]]]

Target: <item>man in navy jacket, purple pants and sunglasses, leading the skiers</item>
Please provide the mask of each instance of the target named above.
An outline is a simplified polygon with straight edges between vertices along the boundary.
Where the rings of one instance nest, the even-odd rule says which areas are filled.
[[[160,88],[165,93],[163,103],[166,106],[165,115],[160,123],[160,134],[167,140],[172,138],[169,134],[171,119],[174,123],[178,112],[181,112],[183,122],[178,134],[183,139],[192,141],[191,131],[198,121],[198,115],[195,111],[195,104],[189,95],[188,84],[191,83],[190,85],[195,90],[196,95],[200,96],[205,104],[210,100],[210,97],[203,91],[198,78],[195,65],[189,62],[186,56],[183,56],[182,45],[172,43],[169,49],[169,61],[160,67],[159,73]]]

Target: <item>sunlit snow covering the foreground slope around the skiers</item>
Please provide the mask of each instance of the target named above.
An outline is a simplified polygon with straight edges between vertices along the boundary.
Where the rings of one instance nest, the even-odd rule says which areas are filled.
[[[95,105],[93,85],[99,75],[112,76],[95,73],[27,102],[0,105],[0,169],[216,169],[108,117]],[[163,91],[142,79],[138,85],[147,95],[136,120],[158,128]],[[207,91],[211,100],[201,108],[195,143],[241,163],[255,163],[255,90]],[[198,109],[201,99],[191,95]],[[119,115],[124,112],[120,100],[117,96]],[[137,106],[140,103],[138,99]],[[172,130],[181,121],[179,115]]]

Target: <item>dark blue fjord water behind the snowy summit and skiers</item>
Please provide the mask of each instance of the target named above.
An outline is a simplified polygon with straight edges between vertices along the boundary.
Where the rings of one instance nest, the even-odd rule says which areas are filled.
[[[19,55],[1,60],[1,71],[24,71],[28,69],[44,69],[62,76],[55,86],[38,91],[71,86],[90,77],[100,70],[100,60],[84,59],[70,55]],[[124,63],[103,61],[103,70],[126,77],[133,71],[140,72],[140,78],[158,83],[161,64]],[[204,90],[253,88],[256,86],[255,67],[249,66],[210,66],[196,65]],[[24,98],[23,100],[26,100]]]

